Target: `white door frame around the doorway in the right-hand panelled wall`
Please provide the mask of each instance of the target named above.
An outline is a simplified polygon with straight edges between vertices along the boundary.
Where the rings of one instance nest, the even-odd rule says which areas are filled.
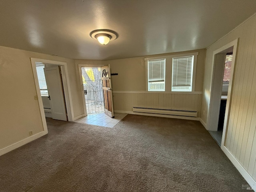
[[[221,48],[215,50],[213,52],[212,56],[212,72],[211,72],[211,81],[210,81],[210,106],[208,108],[208,115],[207,115],[207,130],[211,131],[217,131],[215,130],[216,128],[212,128],[210,122],[214,121],[211,118],[214,118],[214,114],[216,113],[216,108],[220,108],[220,98],[218,101],[214,100],[214,96],[221,96],[220,92],[213,91],[214,88],[214,74],[216,72],[215,66],[216,66],[216,58],[217,54],[222,54],[226,50],[232,48],[233,49],[233,56],[232,56],[232,65],[231,65],[231,71],[230,71],[230,81],[228,85],[228,96],[227,96],[227,103],[226,103],[226,111],[225,111],[225,117],[224,117],[224,126],[223,126],[223,133],[222,133],[222,142],[221,146],[224,145],[225,139],[226,139],[226,128],[228,126],[228,118],[229,118],[229,113],[230,113],[230,101],[231,101],[231,92],[232,92],[232,80],[233,80],[233,74],[234,74],[234,66],[236,62],[236,50],[237,50],[237,44],[238,44],[238,39],[233,40],[232,42],[222,46]],[[221,89],[219,91],[222,91]],[[215,119],[216,120],[216,119]],[[217,127],[218,128],[218,127]]]

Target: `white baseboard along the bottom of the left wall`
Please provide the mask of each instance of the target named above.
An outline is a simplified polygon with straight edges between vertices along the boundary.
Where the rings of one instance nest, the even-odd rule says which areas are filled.
[[[12,151],[12,150],[14,150],[14,149],[16,149],[16,148],[21,147],[21,146],[23,146],[24,144],[27,144],[27,143],[29,143],[29,142],[31,142],[31,141],[34,141],[34,140],[36,140],[36,139],[38,139],[38,138],[40,138],[40,137],[42,137],[42,136],[44,136],[44,135],[46,135],[46,134],[48,134],[48,131],[47,131],[47,130],[46,130],[46,131],[39,132],[39,133],[37,133],[37,134],[34,134],[34,135],[32,135],[32,136],[30,136],[30,137],[28,137],[28,138],[26,138],[26,139],[23,139],[23,140],[21,140],[21,141],[19,141],[19,142],[16,142],[16,143],[14,143],[14,144],[11,144],[10,146],[7,146],[7,147],[5,147],[5,148],[3,148],[3,149],[0,150],[0,156],[3,155],[3,154],[6,154],[6,153],[8,153],[8,152],[10,152],[10,151]]]

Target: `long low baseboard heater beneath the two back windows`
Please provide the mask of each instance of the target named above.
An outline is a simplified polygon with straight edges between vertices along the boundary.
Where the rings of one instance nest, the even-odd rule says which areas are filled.
[[[197,111],[133,107],[133,112],[197,117]]]

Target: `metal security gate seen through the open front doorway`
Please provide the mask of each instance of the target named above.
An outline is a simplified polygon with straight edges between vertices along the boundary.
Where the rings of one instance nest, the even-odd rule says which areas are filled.
[[[82,67],[84,97],[88,115],[104,112],[104,98],[100,75],[100,68]]]

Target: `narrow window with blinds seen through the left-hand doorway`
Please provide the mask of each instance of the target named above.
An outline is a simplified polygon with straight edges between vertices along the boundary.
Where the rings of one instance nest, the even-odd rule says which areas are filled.
[[[46,80],[44,76],[44,64],[36,63],[36,73],[38,77],[41,96],[48,96],[48,90],[47,90]]]

